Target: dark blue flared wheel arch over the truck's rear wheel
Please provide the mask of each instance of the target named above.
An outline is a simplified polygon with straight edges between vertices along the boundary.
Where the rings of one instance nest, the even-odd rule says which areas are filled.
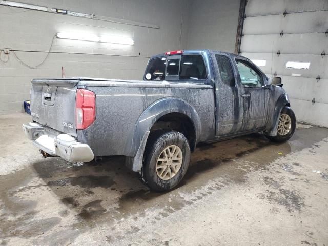
[[[166,97],[155,101],[147,107],[135,122],[133,134],[129,136],[127,141],[128,156],[136,155],[145,133],[150,131],[151,127],[160,117],[169,113],[185,114],[191,119],[196,131],[197,142],[199,134],[201,133],[201,123],[199,115],[194,107],[183,99]]]

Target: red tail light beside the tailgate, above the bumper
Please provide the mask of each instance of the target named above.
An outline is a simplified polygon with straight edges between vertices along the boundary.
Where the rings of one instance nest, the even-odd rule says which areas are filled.
[[[96,95],[86,89],[77,89],[75,100],[76,129],[86,129],[96,119]]]

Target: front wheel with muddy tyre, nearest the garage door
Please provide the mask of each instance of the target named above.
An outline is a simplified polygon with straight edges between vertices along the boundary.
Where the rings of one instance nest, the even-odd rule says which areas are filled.
[[[278,129],[276,136],[267,136],[274,142],[285,142],[289,140],[296,128],[296,118],[293,110],[290,107],[284,107],[279,116]]]

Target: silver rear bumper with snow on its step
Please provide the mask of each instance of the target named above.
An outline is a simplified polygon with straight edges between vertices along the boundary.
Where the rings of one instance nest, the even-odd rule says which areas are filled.
[[[94,154],[87,144],[82,144],[68,134],[63,134],[35,122],[23,124],[23,131],[33,145],[52,156],[69,162],[89,162]]]

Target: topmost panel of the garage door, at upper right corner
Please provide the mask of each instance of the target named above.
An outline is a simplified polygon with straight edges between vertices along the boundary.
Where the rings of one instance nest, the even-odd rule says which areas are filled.
[[[285,10],[290,13],[322,9],[328,9],[327,0],[285,0],[270,1],[269,3],[263,0],[248,0],[245,15],[282,14]]]

